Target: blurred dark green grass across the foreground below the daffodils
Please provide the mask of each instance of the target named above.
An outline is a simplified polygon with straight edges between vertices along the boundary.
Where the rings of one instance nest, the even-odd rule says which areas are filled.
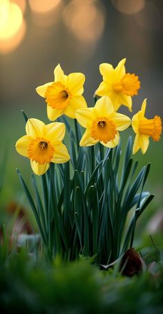
[[[86,259],[39,266],[24,250],[4,261],[0,250],[1,313],[162,313],[162,264],[127,278]]]

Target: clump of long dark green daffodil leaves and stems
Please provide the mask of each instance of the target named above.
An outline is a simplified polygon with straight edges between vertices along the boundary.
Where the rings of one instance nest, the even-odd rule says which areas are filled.
[[[129,138],[121,173],[120,143],[105,151],[100,144],[79,147],[81,128],[77,121],[74,132],[65,117],[60,119],[70,133],[71,163],[51,163],[41,176],[41,190],[32,175],[35,199],[17,170],[21,184],[50,259],[97,255],[98,264],[109,264],[133,246],[137,219],[153,198],[144,192],[150,165],[135,176],[137,162],[131,158]],[[128,221],[131,210],[133,216]]]

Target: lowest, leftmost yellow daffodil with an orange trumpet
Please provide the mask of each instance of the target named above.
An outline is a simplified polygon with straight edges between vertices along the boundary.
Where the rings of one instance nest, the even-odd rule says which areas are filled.
[[[66,163],[70,156],[61,142],[65,135],[64,123],[44,124],[37,119],[26,123],[27,135],[16,142],[16,149],[22,156],[30,158],[30,165],[35,174],[44,174],[50,163]]]

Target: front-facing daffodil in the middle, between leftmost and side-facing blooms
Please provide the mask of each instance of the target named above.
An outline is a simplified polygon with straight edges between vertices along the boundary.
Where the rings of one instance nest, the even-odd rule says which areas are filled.
[[[77,121],[86,128],[79,145],[92,146],[100,142],[106,147],[115,147],[119,142],[119,132],[131,124],[130,118],[114,111],[107,96],[97,100],[95,107],[83,108],[76,112]]]

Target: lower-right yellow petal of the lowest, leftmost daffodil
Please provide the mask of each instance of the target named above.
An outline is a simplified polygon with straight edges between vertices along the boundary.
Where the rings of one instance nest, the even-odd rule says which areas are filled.
[[[60,142],[55,146],[55,152],[52,157],[52,163],[66,163],[70,160],[70,155],[68,154],[68,150],[66,146]]]

